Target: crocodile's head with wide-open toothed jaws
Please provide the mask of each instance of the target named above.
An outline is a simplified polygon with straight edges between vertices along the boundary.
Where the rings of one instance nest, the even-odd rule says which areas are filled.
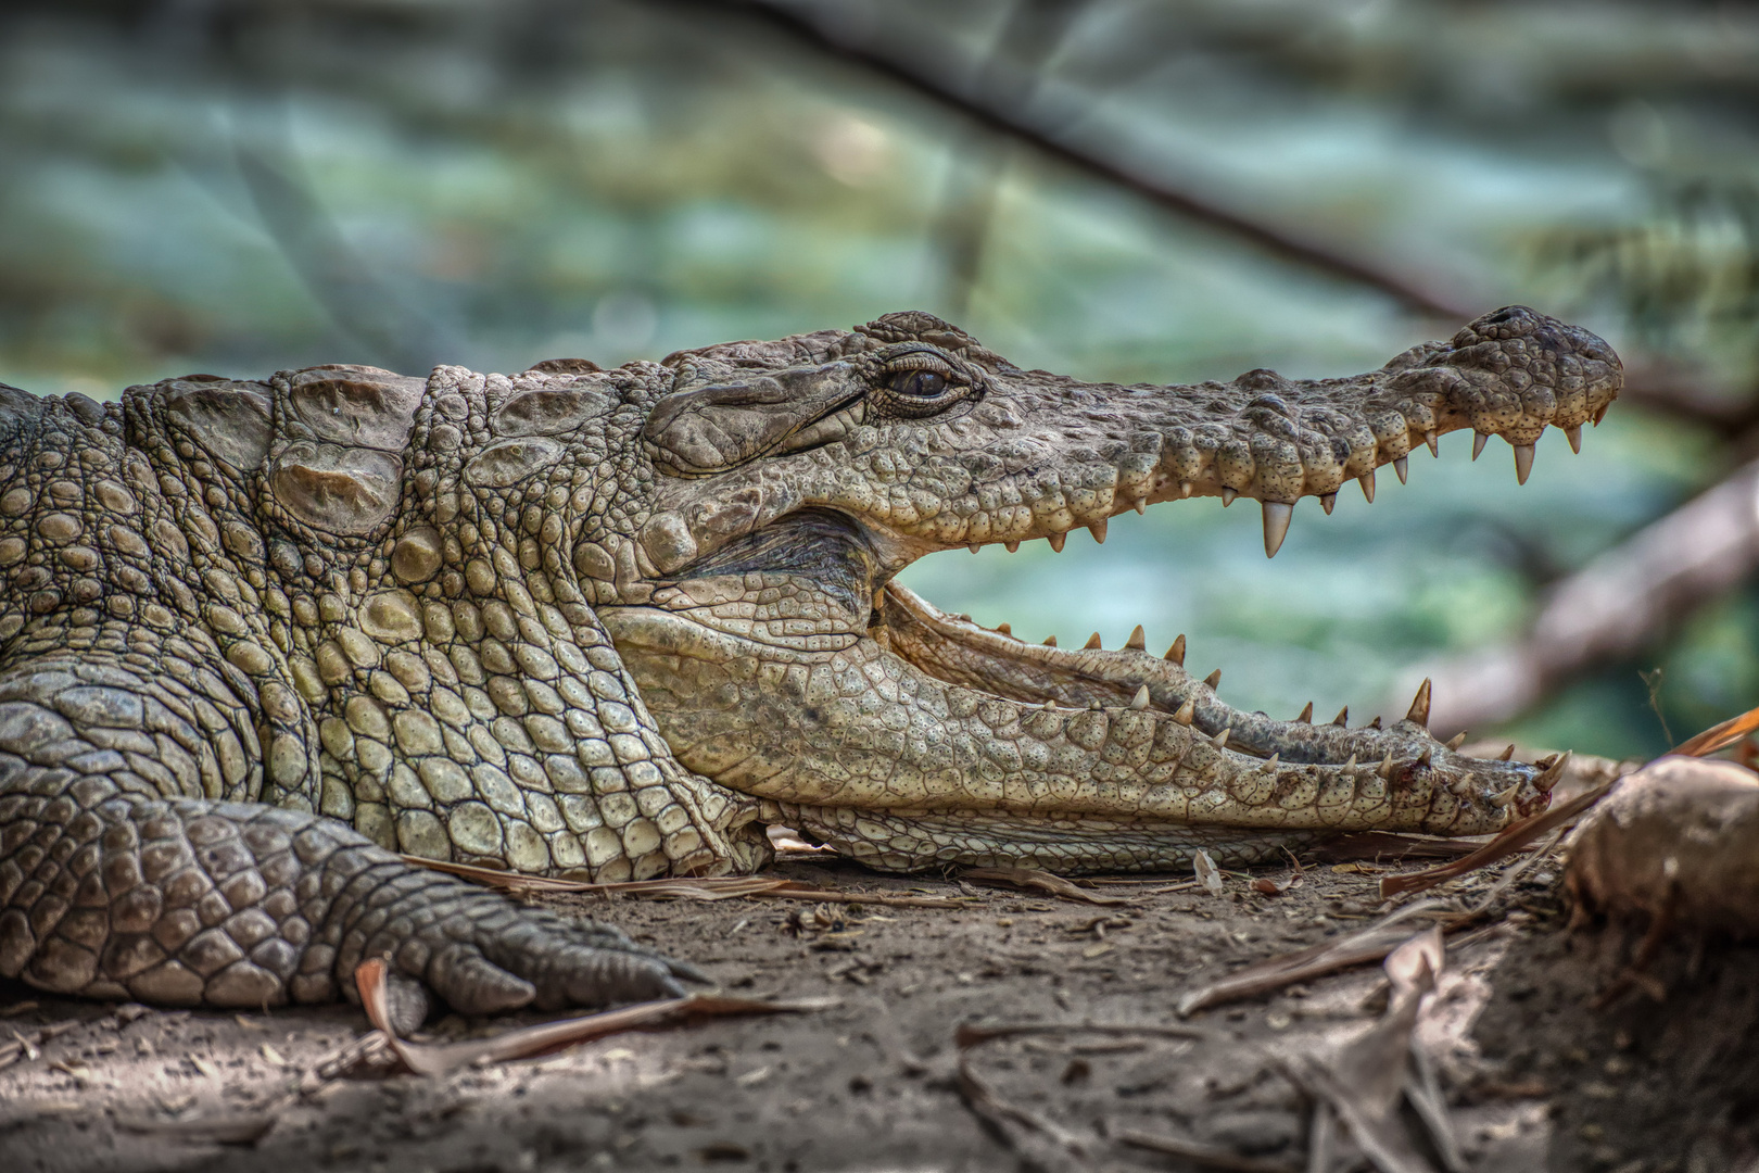
[[[1587,331],[1506,308],[1379,371],[1120,387],[1022,371],[925,313],[730,343],[663,364],[624,457],[626,510],[573,566],[675,756],[888,869],[1136,869],[1263,858],[1317,835],[1481,834],[1546,802],[1543,765],[1238,712],[1184,640],[1027,645],[894,582],[960,547],[1105,538],[1124,510],[1254,498],[1275,554],[1296,503],[1471,427],[1527,478],[1578,447],[1622,371]],[[600,376],[588,376],[588,380]],[[1555,772],[1555,770],[1553,770]]]

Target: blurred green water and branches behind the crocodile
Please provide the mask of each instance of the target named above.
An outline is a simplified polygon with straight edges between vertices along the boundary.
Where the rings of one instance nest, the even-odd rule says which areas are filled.
[[[1527,302],[1627,396],[1266,563],[1217,501],[904,580],[1189,635],[1245,709],[1653,754],[1759,703],[1759,9],[1625,0],[11,0],[0,382],[610,366],[922,308],[1024,368],[1381,366]],[[1446,735],[1446,732],[1442,735]]]

